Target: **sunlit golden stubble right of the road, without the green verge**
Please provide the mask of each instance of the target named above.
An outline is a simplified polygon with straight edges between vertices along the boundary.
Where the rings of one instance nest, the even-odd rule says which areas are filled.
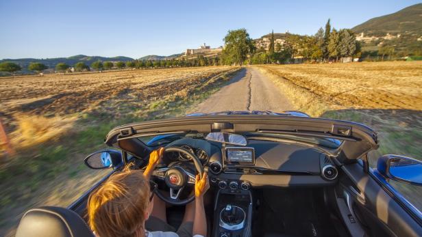
[[[422,110],[422,62],[262,66],[334,106]]]

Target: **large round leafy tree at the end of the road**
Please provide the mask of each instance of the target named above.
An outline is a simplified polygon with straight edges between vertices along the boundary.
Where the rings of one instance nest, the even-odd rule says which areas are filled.
[[[249,38],[246,29],[235,29],[228,31],[224,38],[225,48],[223,49],[223,61],[225,64],[239,64],[247,59],[247,55],[253,53],[253,42]]]

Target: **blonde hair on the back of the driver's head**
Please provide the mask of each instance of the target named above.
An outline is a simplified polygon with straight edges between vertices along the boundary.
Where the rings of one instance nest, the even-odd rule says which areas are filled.
[[[149,182],[142,171],[114,173],[88,198],[88,224],[100,237],[136,236],[145,227]]]

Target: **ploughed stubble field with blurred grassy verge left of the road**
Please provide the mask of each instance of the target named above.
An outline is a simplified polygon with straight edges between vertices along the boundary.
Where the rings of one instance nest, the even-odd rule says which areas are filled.
[[[117,125],[184,115],[239,68],[210,66],[0,78],[0,236],[34,206],[69,206],[108,171],[84,165]],[[1,149],[0,149],[1,151]]]

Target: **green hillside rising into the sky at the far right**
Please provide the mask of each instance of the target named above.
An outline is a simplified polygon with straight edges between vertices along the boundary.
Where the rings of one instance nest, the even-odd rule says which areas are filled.
[[[367,36],[385,36],[386,33],[417,33],[422,35],[422,3],[411,5],[393,14],[367,20],[351,29]]]

